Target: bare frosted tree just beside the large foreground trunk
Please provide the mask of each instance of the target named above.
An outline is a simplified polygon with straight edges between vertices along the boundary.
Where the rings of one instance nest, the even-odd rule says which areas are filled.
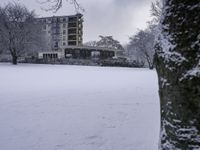
[[[155,33],[152,29],[139,30],[136,35],[130,37],[128,44],[128,55],[136,60],[144,61],[150,69],[154,68],[153,58]]]

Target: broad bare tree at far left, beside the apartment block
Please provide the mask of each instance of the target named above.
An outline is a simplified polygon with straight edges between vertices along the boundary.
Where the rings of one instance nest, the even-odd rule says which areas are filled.
[[[33,11],[17,3],[0,7],[0,47],[10,52],[13,64],[33,47],[38,49],[43,44],[41,38],[41,26]]]

